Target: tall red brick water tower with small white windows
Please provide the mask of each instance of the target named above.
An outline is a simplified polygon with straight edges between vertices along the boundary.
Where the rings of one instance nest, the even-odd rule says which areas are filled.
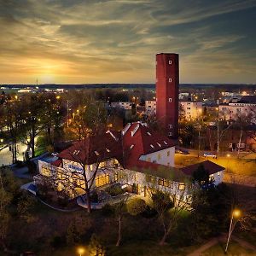
[[[178,55],[156,55],[156,118],[166,136],[178,137]]]

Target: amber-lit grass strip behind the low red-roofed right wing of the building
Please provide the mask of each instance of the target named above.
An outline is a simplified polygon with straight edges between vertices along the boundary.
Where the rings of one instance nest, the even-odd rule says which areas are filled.
[[[198,158],[195,155],[175,154],[175,164],[178,166],[189,166],[205,160],[211,160],[220,166],[224,166],[229,172],[256,177],[256,160],[227,157],[219,157],[218,159],[206,159],[204,157]]]

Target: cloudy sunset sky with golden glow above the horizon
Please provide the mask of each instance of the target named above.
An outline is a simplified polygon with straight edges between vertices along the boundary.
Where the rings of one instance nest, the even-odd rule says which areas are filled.
[[[255,0],[0,0],[0,84],[256,83]]]

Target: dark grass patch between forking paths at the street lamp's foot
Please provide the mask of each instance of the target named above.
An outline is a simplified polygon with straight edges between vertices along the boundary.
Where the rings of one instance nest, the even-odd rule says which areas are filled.
[[[230,242],[230,246],[228,248],[228,253],[224,253],[225,244],[218,243],[213,247],[210,247],[205,252],[201,253],[203,256],[221,256],[221,255],[236,255],[236,256],[245,256],[245,255],[255,255],[255,252],[252,250],[248,250],[247,248],[241,247],[239,243],[235,241]]]

